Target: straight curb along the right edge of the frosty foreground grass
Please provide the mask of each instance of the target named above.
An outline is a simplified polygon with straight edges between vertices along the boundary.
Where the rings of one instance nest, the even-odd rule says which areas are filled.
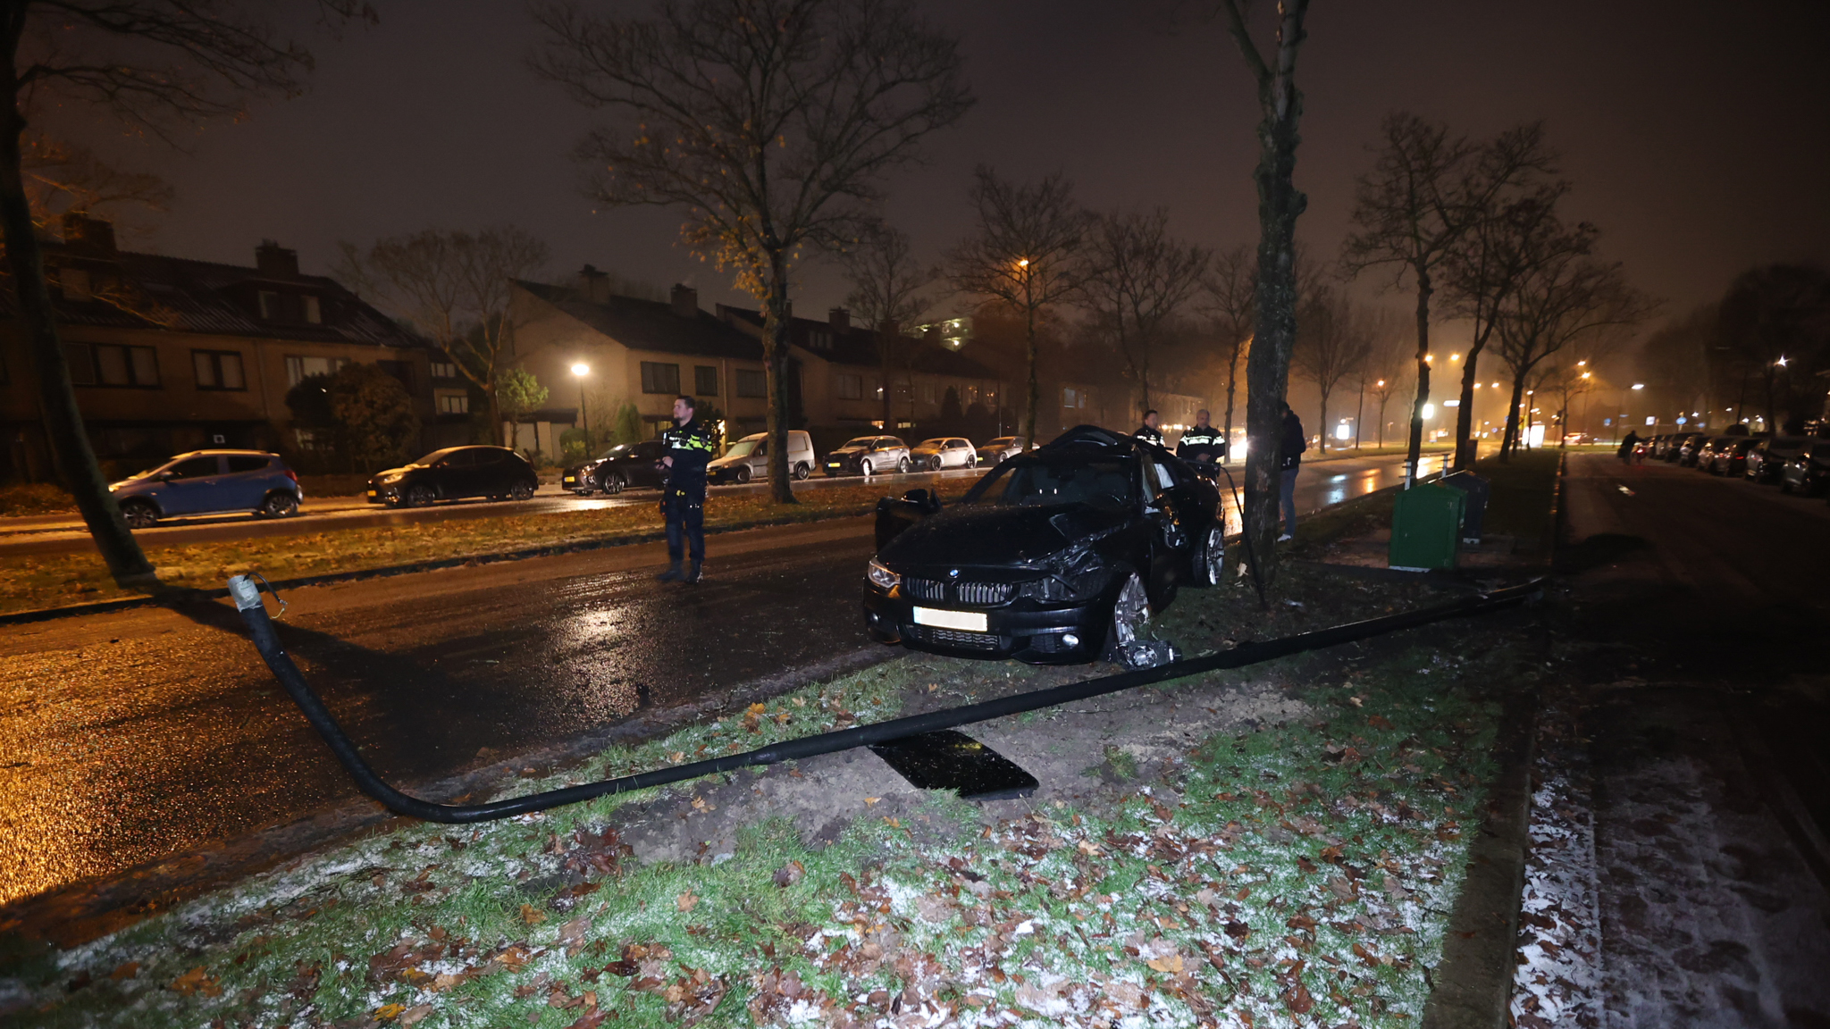
[[[1431,970],[1422,1029],[1506,1029],[1530,842],[1537,690],[1515,694],[1493,740],[1499,774],[1488,791],[1468,875]],[[1466,831],[1466,828],[1464,828]]]

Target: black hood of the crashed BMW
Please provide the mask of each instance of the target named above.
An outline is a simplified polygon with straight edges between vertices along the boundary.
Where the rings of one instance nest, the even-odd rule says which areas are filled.
[[[880,560],[897,566],[1016,568],[1125,522],[1122,511],[1085,505],[948,507],[904,529]]]

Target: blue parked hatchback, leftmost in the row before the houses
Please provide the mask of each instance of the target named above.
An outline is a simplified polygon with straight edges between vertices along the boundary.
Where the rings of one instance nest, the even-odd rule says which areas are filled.
[[[291,518],[306,500],[298,474],[265,450],[192,450],[108,485],[134,529],[181,514]]]

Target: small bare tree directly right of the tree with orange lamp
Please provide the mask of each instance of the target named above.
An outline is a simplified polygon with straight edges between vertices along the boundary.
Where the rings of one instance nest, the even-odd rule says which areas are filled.
[[[1111,331],[1125,370],[1149,410],[1151,352],[1164,326],[1200,289],[1211,253],[1169,236],[1169,209],[1149,214],[1102,214],[1085,251],[1082,297]]]

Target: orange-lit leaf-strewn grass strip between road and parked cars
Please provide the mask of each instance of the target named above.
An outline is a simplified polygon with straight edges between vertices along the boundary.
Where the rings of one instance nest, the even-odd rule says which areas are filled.
[[[946,480],[933,489],[959,496],[972,480]],[[767,496],[708,496],[706,529],[818,522],[864,514],[886,494],[882,485],[840,485],[800,493],[800,504],[778,505]],[[602,544],[662,529],[659,505],[608,507],[565,514],[511,514],[461,518],[412,525],[331,529],[296,536],[260,536],[209,544],[148,546],[159,580],[167,586],[216,590],[231,575],[260,571],[267,579],[300,579],[342,571],[399,568],[425,560],[450,560],[514,553],[534,547]],[[59,604],[115,601],[135,593],[115,586],[95,553],[0,558],[0,613],[31,612]]]

